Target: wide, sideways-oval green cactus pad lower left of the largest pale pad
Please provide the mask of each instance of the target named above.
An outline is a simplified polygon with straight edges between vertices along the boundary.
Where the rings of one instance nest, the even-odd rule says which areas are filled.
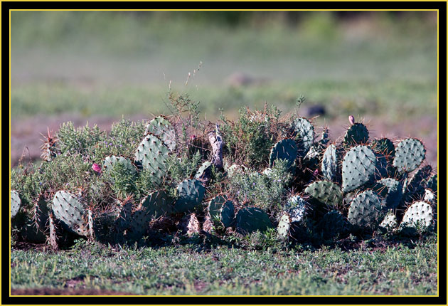
[[[305,193],[311,196],[309,201],[318,209],[337,208],[342,204],[341,189],[331,181],[315,181],[306,187]]]

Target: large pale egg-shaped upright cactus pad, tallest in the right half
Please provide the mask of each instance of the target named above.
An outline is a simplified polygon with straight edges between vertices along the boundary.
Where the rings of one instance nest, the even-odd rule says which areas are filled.
[[[342,191],[353,191],[368,183],[375,174],[376,157],[366,146],[352,147],[343,157]]]

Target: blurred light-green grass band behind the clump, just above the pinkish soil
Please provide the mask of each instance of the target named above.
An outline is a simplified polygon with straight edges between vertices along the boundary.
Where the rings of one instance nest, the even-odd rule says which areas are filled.
[[[200,101],[201,114],[211,120],[223,109],[235,115],[242,105],[262,109],[265,102],[291,111],[297,97],[303,94],[307,104],[326,106],[327,118],[356,115],[383,115],[400,119],[437,113],[437,92],[425,81],[395,80],[371,82],[355,80],[316,80],[296,83],[273,83],[271,86],[228,88],[207,85],[198,90],[185,90]],[[174,88],[176,90],[176,88]],[[16,86],[11,93],[11,117],[61,115],[78,113],[81,116],[102,115],[119,118],[135,114],[166,113],[168,88],[143,85],[101,86],[95,90],[80,90],[70,84],[33,83]]]

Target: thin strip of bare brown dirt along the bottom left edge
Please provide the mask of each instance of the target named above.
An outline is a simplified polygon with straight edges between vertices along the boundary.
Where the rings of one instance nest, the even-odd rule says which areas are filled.
[[[11,295],[135,295],[130,292],[96,289],[56,289],[56,288],[33,288],[33,289],[11,289]]]

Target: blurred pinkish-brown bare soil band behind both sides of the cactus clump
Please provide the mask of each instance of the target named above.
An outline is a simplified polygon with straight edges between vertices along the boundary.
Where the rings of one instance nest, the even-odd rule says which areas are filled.
[[[47,134],[47,127],[53,134],[58,131],[63,122],[71,121],[75,127],[82,127],[86,122],[90,126],[96,124],[100,130],[110,131],[111,125],[121,118],[113,117],[81,117],[79,115],[60,115],[58,117],[36,116],[23,120],[11,121],[11,167],[18,165],[22,157],[22,163],[33,162],[40,159],[41,144],[43,136]],[[129,120],[139,121],[148,119],[141,115],[129,117]],[[437,168],[437,118],[434,116],[422,116],[419,119],[401,120],[400,122],[386,121],[380,117],[367,117],[366,125],[370,132],[370,139],[374,137],[389,137],[390,139],[402,139],[405,137],[416,137],[421,139],[427,149],[427,164]],[[370,122],[370,123],[369,123]],[[316,125],[323,125],[319,120]],[[330,137],[335,141],[347,129],[349,123],[346,120],[325,121],[329,127]],[[316,133],[321,129],[316,128]]]

